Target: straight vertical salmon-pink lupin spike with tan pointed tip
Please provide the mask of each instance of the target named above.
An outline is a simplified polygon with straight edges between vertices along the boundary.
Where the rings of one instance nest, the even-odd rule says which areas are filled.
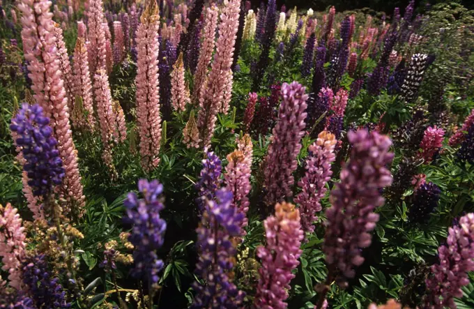
[[[155,1],[149,1],[137,29],[137,120],[142,167],[148,171],[160,162],[160,86],[158,54],[160,21]]]

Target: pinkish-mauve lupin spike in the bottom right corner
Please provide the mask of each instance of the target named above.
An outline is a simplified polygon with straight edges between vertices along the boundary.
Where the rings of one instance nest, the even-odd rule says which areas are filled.
[[[468,271],[474,271],[474,213],[459,219],[450,227],[446,245],[438,248],[439,263],[431,266],[432,276],[426,280],[429,292],[426,308],[457,308],[454,297],[461,298],[461,287],[469,283]]]

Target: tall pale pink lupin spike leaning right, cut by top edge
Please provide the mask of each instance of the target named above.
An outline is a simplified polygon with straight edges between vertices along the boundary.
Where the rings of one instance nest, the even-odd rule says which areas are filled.
[[[199,98],[201,109],[199,110],[197,123],[202,146],[204,147],[211,144],[217,111],[222,105],[226,86],[229,86],[227,78],[229,78],[228,74],[231,74],[230,66],[236,41],[239,10],[240,0],[227,2],[227,6],[225,6],[221,15],[222,22],[219,25],[219,38],[217,38],[217,48],[211,66],[211,73],[209,73],[206,87],[201,88]]]

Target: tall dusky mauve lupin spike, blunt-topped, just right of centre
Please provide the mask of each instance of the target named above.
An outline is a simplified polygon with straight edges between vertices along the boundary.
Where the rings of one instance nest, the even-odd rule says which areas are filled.
[[[265,202],[268,206],[291,197],[294,183],[293,172],[298,167],[296,157],[300,153],[300,140],[305,130],[306,100],[305,87],[298,82],[282,84],[282,103],[278,121],[273,128],[273,141],[268,146],[265,158],[264,188]]]

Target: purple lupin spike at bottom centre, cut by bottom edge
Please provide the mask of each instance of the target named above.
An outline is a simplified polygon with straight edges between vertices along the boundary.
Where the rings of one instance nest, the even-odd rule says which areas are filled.
[[[241,308],[245,294],[232,282],[236,248],[231,237],[239,236],[244,214],[232,204],[228,190],[217,190],[215,197],[204,198],[204,213],[197,228],[196,273],[205,284],[194,282],[197,294],[191,308]]]

